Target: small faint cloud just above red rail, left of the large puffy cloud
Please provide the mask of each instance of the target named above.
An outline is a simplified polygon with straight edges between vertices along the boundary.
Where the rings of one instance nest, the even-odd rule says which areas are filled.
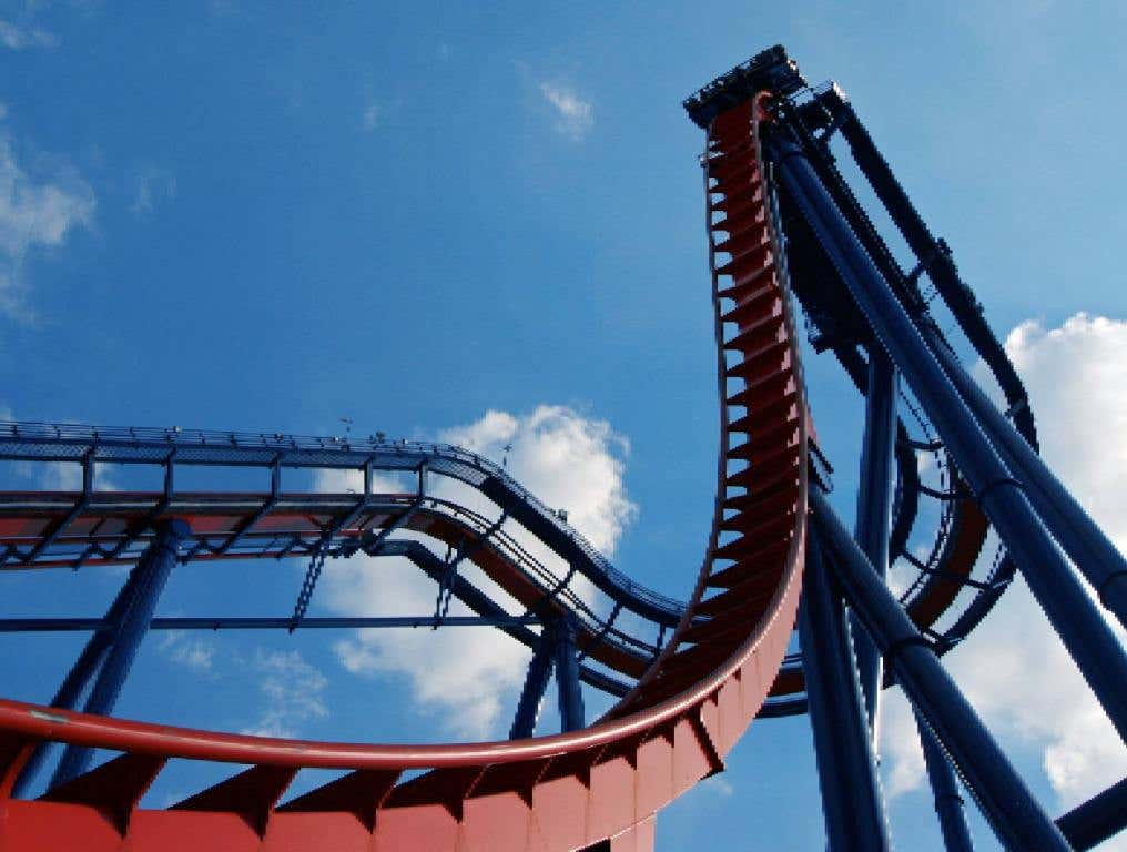
[[[265,708],[259,718],[242,729],[257,737],[292,738],[301,725],[329,715],[323,692],[328,681],[296,650],[255,651],[248,674],[258,678]]]

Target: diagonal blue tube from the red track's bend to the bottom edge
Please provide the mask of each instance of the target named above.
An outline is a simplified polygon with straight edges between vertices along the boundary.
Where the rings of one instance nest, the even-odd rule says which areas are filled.
[[[1071,852],[1064,835],[1014,772],[931,645],[877,577],[825,496],[811,488],[809,504],[818,533],[834,553],[832,565],[845,600],[884,653],[897,683],[951,755],[999,840],[1013,850]]]

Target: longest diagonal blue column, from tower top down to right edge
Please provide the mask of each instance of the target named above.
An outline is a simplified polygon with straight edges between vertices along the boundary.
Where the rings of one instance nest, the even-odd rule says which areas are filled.
[[[1127,655],[801,149],[775,139],[782,180],[935,425],[1097,700],[1127,740]]]

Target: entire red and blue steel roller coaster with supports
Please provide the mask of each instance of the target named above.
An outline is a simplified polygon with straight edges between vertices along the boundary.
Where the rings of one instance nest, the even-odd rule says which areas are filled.
[[[1127,624],[1127,563],[1038,456],[1026,391],[950,248],[842,89],[811,88],[782,47],[684,107],[706,135],[720,400],[712,526],[686,598],[630,579],[505,468],[456,446],[0,424],[0,460],[81,473],[78,490],[0,492],[0,568],[130,567],[105,618],[0,618],[6,633],[89,633],[50,702],[0,700],[0,850],[641,852],[654,846],[657,811],[722,772],[753,719],[798,713],[814,731],[829,847],[887,850],[872,731],[893,686],[916,712],[948,850],[971,849],[962,790],[1006,849],[1085,850],[1127,826],[1127,780],[1051,818],[940,662],[1020,573],[1127,736],[1127,656],[1109,628]],[[851,189],[831,149],[842,141],[913,268]],[[1004,410],[959,347],[987,365]],[[852,532],[827,497],[833,468],[804,350],[832,354],[864,400]],[[106,464],[156,471],[163,488],[99,488]],[[263,488],[181,490],[187,469],[216,482],[249,471]],[[310,489],[310,473],[323,471],[363,486]],[[400,490],[381,490],[378,474],[389,473]],[[477,497],[454,499],[442,482]],[[922,540],[930,547],[909,547]],[[309,615],[327,561],[361,552],[410,560],[436,586],[434,612]],[[292,613],[154,618],[170,573],[189,562],[283,558],[309,561]],[[505,601],[459,570],[470,563]],[[912,575],[895,595],[894,566]],[[592,603],[592,588],[610,607]],[[451,615],[453,598],[473,614]],[[496,629],[532,649],[509,739],[305,742],[112,715],[150,630],[403,627]],[[533,736],[553,672],[562,730]],[[584,689],[616,703],[589,722]],[[53,769],[48,744],[64,746]],[[95,749],[116,756],[92,765]],[[172,758],[250,767],[169,807],[141,807]],[[314,769],[343,774],[287,798]]]

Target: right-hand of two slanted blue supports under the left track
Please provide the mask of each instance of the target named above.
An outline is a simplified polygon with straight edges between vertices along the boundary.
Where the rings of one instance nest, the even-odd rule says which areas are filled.
[[[113,637],[106,662],[90,690],[90,696],[82,708],[87,713],[105,716],[114,709],[117,695],[125,685],[133,659],[136,657],[141,639],[149,630],[149,622],[157,609],[157,601],[165,588],[168,575],[176,565],[180,542],[190,535],[184,521],[169,521],[157,530],[157,536],[141,556],[136,571],[140,574],[137,591],[122,616]],[[51,787],[70,781],[82,774],[94,751],[82,746],[68,746],[51,779]]]

